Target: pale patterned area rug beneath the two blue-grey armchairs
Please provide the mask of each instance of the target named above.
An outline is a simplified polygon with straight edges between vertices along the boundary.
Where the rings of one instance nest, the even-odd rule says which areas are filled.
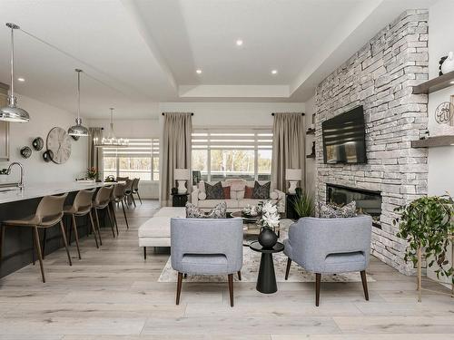
[[[291,219],[281,220],[281,236],[280,241],[287,238],[288,228],[290,227]],[[246,242],[246,241],[245,241]],[[242,255],[242,282],[257,282],[259,274],[261,254],[253,251],[249,247],[243,247]],[[273,254],[274,271],[276,273],[277,282],[315,282],[315,274],[309,273],[298,266],[296,263],[291,264],[289,279],[285,280],[285,268],[287,267],[287,257],[283,252]],[[234,276],[238,281],[238,277]],[[171,258],[165,264],[158,282],[176,282],[177,272],[173,270]],[[226,282],[227,276],[202,276],[189,275],[184,279],[185,282]],[[360,273],[340,273],[336,275],[322,275],[323,282],[360,282]],[[368,282],[374,282],[375,279],[367,275]]]

